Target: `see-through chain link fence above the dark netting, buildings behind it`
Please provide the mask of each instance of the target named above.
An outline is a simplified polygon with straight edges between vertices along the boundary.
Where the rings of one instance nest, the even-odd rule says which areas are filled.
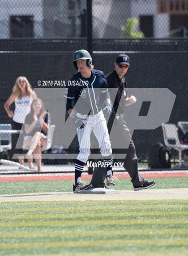
[[[87,7],[86,0],[1,0],[0,38],[86,37]],[[94,38],[188,36],[188,0],[92,0],[91,8]]]

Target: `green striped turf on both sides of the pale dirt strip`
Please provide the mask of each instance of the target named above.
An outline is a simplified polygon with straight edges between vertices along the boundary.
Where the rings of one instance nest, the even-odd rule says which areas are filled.
[[[151,179],[150,179],[151,180]],[[151,189],[186,188],[158,178]],[[63,192],[72,180],[2,182],[1,194]],[[132,189],[129,179],[116,189]],[[188,256],[186,200],[0,203],[0,256]]]

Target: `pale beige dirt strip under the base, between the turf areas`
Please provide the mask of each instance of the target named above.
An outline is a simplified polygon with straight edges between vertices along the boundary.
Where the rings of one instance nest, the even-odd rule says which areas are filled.
[[[117,190],[112,194],[28,193],[1,195],[0,202],[97,201],[97,200],[188,200],[188,189]]]

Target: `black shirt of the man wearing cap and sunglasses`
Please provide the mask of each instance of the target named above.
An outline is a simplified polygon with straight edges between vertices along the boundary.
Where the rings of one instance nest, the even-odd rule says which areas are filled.
[[[125,112],[125,99],[128,97],[128,88],[127,88],[127,82],[124,78],[120,78],[118,74],[116,73],[115,69],[113,72],[107,75],[107,82],[109,88],[118,88],[117,95],[115,97],[115,102],[113,105],[112,113],[113,114],[124,114]],[[111,94],[113,93],[111,90],[108,90]],[[123,96],[122,96],[123,94]],[[120,105],[120,107],[119,107]],[[118,109],[119,107],[119,109]],[[117,112],[118,109],[118,112]]]

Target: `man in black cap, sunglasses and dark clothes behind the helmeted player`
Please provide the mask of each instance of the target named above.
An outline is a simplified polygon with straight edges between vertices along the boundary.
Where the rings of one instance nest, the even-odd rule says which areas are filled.
[[[125,112],[126,106],[136,103],[137,99],[132,95],[128,96],[128,87],[127,82],[124,78],[124,75],[128,71],[130,67],[129,57],[126,54],[120,54],[117,56],[115,61],[115,69],[109,75],[107,75],[107,82],[109,88],[118,88],[115,102],[113,105],[111,117],[108,121],[108,131],[110,133],[112,125],[115,125],[115,133],[118,135],[118,138],[126,142],[125,144],[129,144],[127,148],[117,149],[113,147],[115,143],[115,136],[111,136],[111,146],[113,153],[115,154],[126,154],[124,159],[119,159],[120,162],[124,162],[124,168],[128,171],[130,177],[132,178],[131,182],[133,184],[134,190],[140,189],[148,189],[155,184],[154,181],[147,181],[141,177],[138,171],[138,160],[137,155],[135,152],[135,146],[131,139],[130,132],[125,122]],[[109,90],[109,93],[112,94],[113,92]],[[123,94],[123,95],[122,95]],[[111,95],[112,97],[112,95]],[[117,136],[116,136],[117,137]],[[97,168],[94,171],[93,178],[91,180],[91,184],[93,187],[102,187],[104,186],[105,175],[103,174],[104,171],[101,170],[102,168]]]

